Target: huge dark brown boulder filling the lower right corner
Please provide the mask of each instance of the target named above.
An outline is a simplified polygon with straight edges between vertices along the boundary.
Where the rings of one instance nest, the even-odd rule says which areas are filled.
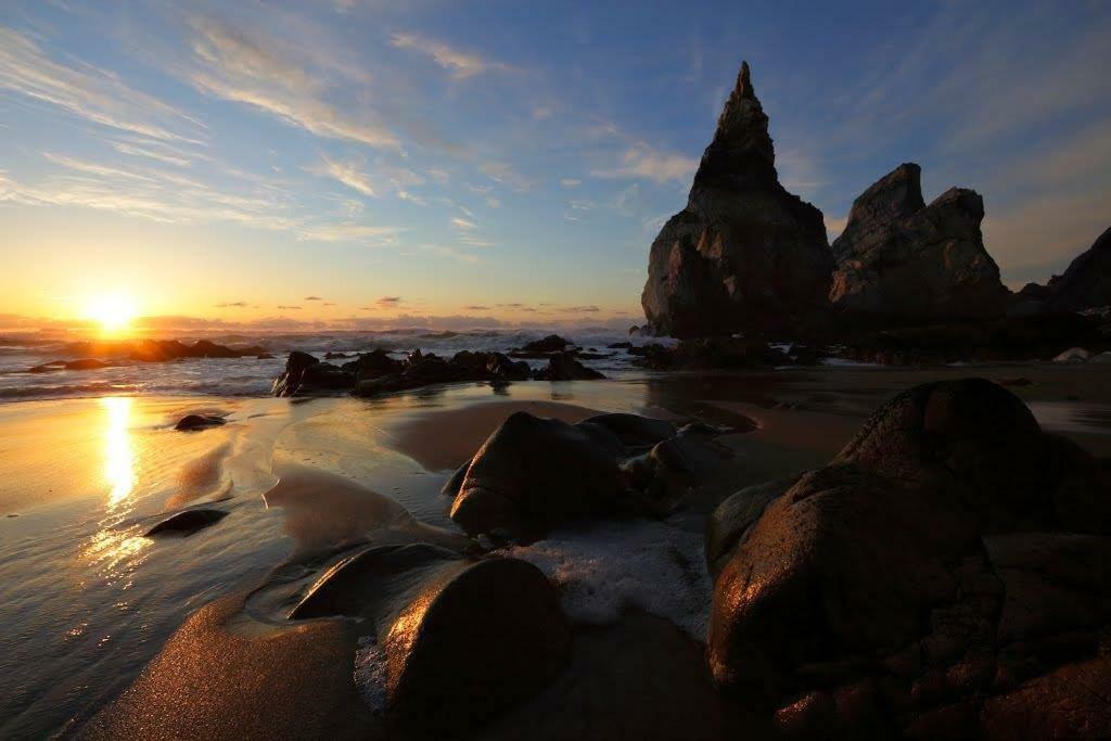
[[[1020,400],[917,387],[715,512],[710,670],[781,732],[1103,735],[1109,537],[1100,467]]]

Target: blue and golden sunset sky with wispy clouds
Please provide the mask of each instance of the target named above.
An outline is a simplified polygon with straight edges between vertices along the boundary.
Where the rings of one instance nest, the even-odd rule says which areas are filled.
[[[7,1],[0,329],[642,321],[741,60],[832,239],[900,162],[1004,282],[1111,226],[1111,3]]]

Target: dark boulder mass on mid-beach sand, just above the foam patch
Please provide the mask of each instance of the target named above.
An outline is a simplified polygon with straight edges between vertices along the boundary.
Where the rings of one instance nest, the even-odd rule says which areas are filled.
[[[567,521],[667,514],[725,457],[717,433],[632,414],[569,424],[517,412],[448,482],[451,519],[471,535],[532,542]]]

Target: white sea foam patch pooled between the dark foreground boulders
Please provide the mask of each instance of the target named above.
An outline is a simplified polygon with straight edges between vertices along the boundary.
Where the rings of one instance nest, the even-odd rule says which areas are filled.
[[[552,532],[508,555],[556,582],[572,622],[611,624],[639,608],[704,641],[713,585],[703,550],[698,533],[638,520]]]

